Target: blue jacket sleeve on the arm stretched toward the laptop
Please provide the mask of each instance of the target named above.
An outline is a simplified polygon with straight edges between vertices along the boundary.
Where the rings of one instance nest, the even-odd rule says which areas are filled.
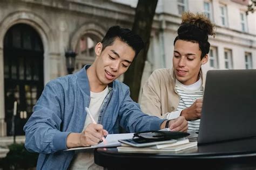
[[[149,116],[140,110],[139,104],[130,97],[130,90],[126,91],[124,101],[119,111],[120,125],[127,132],[142,132],[149,130],[159,130],[161,123],[165,119],[156,116]]]

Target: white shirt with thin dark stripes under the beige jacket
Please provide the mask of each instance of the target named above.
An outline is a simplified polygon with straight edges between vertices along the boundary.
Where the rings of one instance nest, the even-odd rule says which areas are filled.
[[[180,96],[179,105],[177,111],[182,111],[190,107],[198,98],[203,97],[203,86],[202,80],[199,79],[196,83],[185,86],[180,83],[178,80],[176,81],[176,91]],[[195,121],[188,121],[188,131],[199,131],[200,119]]]

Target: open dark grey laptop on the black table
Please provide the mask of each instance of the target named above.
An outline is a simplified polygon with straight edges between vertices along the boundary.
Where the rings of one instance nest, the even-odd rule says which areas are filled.
[[[256,136],[256,69],[209,70],[198,144]]]

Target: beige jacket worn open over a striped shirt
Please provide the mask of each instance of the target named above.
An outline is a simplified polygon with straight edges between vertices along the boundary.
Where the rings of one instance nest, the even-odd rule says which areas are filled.
[[[200,70],[200,76],[205,84],[205,76]],[[179,104],[179,95],[175,87],[175,75],[172,69],[161,68],[154,70],[142,91],[140,107],[149,115],[165,118],[166,114],[176,111]]]

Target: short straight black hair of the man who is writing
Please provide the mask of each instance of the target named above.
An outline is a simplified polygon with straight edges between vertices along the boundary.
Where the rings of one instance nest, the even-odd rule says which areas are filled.
[[[107,30],[107,33],[102,40],[102,50],[107,46],[111,46],[116,38],[119,38],[132,47],[135,51],[135,56],[137,56],[140,50],[145,46],[142,38],[138,34],[133,33],[129,29],[121,28],[120,26],[112,26]]]

